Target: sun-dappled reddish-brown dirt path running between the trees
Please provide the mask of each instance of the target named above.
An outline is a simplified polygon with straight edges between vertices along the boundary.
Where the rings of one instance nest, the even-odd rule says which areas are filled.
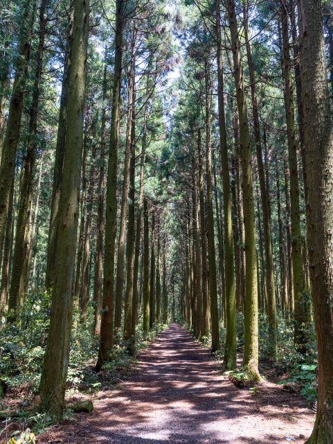
[[[314,414],[274,382],[236,388],[220,364],[180,325],[138,357],[138,370],[94,409],[37,437],[37,443],[304,443]],[[71,400],[82,400],[71,397]]]

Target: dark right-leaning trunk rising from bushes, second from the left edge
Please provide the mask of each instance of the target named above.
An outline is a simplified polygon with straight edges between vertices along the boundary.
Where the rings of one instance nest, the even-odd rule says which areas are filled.
[[[40,31],[39,31],[39,44],[37,49],[35,83],[33,87],[33,103],[30,108],[28,148],[26,153],[26,163],[24,165],[24,177],[21,183],[19,212],[17,216],[17,229],[15,233],[14,257],[12,261],[12,278],[10,282],[10,293],[9,293],[9,302],[8,302],[9,322],[15,320],[15,311],[17,310],[17,307],[19,305],[19,298],[20,297],[23,298],[25,280],[26,280],[26,266],[28,261],[28,233],[29,233],[28,228],[29,228],[29,219],[31,214],[31,203],[33,199],[33,170],[35,166],[35,157],[36,157],[35,137],[37,134],[37,115],[38,115],[38,104],[39,104],[40,79],[42,76],[43,51],[44,51],[45,26],[46,26],[46,19],[44,17],[45,6],[46,6],[46,0],[43,0],[39,11]],[[5,147],[3,155],[5,156]],[[3,162],[5,162],[5,157],[3,157]],[[5,168],[6,163],[3,163],[1,165],[2,168]],[[0,181],[1,181],[1,173],[0,173]]]

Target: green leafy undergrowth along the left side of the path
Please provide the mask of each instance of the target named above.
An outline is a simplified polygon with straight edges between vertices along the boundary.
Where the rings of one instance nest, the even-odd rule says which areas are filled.
[[[1,320],[0,382],[6,384],[11,395],[37,393],[48,339],[51,298],[52,291],[28,293],[15,323],[6,324],[5,317]],[[91,393],[102,386],[100,375],[93,370],[99,346],[99,337],[93,334],[93,304],[90,303],[87,307],[86,324],[80,323],[79,317],[79,313],[73,314],[76,322],[71,333],[67,375],[69,394],[78,390]],[[136,350],[147,347],[167,326],[154,324],[152,330],[146,334],[140,322],[136,326]],[[105,370],[114,378],[117,373],[128,370],[136,362],[135,357],[129,353],[129,342],[123,341],[121,329],[115,332],[115,343],[105,364]],[[109,382],[112,382],[112,378]]]

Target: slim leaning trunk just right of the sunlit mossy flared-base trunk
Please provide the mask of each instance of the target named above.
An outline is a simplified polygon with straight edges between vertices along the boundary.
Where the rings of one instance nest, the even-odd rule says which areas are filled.
[[[278,342],[277,342],[277,324],[278,319],[276,317],[276,298],[274,287],[274,265],[273,265],[273,248],[271,241],[271,225],[270,225],[270,211],[269,211],[269,198],[267,195],[267,184],[265,182],[264,164],[262,162],[262,147],[260,139],[260,124],[257,97],[255,95],[255,72],[251,54],[251,47],[249,42],[249,31],[247,15],[248,10],[245,2],[243,3],[243,15],[244,15],[244,37],[246,40],[246,53],[249,64],[250,83],[251,83],[251,99],[253,108],[253,123],[254,123],[254,135],[255,135],[255,151],[257,154],[258,162],[258,175],[260,182],[260,196],[262,204],[262,221],[264,228],[264,250],[266,254],[266,289],[267,289],[267,302],[268,302],[268,318],[269,318],[269,357],[276,361],[278,356]],[[266,132],[264,133],[264,139],[266,142]],[[266,144],[267,145],[267,142]],[[265,155],[265,160],[267,155]],[[268,179],[268,175],[267,175]]]

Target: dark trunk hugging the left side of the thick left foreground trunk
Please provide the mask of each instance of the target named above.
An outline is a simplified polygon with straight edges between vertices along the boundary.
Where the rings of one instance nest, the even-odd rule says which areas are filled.
[[[71,54],[73,46],[74,1],[69,8],[66,49],[64,55],[64,74],[62,76],[62,94],[60,97],[57,144],[55,146],[55,164],[53,169],[53,189],[51,198],[50,228],[48,230],[48,248],[46,259],[46,288],[53,286],[55,270],[55,250],[57,248],[57,228],[59,223],[60,192],[62,187],[62,169],[64,166],[64,146],[67,128],[67,110],[69,105],[69,79],[71,75]]]

